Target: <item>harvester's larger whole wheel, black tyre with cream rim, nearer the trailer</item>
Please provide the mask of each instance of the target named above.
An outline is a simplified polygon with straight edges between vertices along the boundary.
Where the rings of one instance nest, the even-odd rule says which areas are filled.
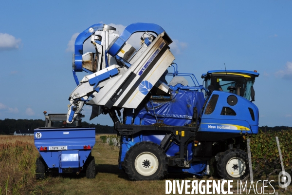
[[[167,167],[168,159],[164,150],[150,141],[136,143],[124,158],[125,173],[131,180],[163,179]]]

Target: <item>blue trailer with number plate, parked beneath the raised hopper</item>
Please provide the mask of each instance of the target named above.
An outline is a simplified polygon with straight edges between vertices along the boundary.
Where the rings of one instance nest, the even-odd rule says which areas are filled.
[[[95,144],[95,128],[59,127],[35,129],[37,179],[46,173],[86,172],[86,177],[95,177],[95,161],[91,150]]]

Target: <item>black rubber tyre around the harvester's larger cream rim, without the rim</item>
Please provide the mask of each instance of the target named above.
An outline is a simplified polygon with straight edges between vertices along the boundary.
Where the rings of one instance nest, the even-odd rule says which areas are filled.
[[[143,153],[151,153],[157,158],[158,162],[157,170],[148,176],[138,173],[135,167],[135,160],[138,156],[143,155]],[[167,167],[168,159],[164,150],[158,144],[150,141],[136,143],[134,146],[130,147],[124,158],[125,173],[131,180],[141,181],[163,179],[167,173]]]

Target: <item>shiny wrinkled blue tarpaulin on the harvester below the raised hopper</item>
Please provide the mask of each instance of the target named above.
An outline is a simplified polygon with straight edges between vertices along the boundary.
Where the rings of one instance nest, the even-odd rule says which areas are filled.
[[[204,94],[195,91],[177,91],[171,92],[170,101],[152,100],[155,114],[159,123],[172,126],[184,126],[190,124],[193,118],[194,107],[197,107],[198,113],[204,104]],[[146,108],[143,108],[137,117],[142,119],[142,124],[151,125],[156,123],[151,102],[147,102]]]

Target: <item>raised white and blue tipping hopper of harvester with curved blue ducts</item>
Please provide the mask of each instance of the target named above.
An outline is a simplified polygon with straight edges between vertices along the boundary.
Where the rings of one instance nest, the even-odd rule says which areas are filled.
[[[83,105],[92,105],[93,117],[112,107],[137,108],[174,60],[168,45],[172,40],[162,27],[151,23],[130,24],[121,35],[115,28],[94,24],[75,41],[73,76],[78,85],[70,95],[67,122],[72,123]],[[141,47],[127,43],[136,32],[144,32]],[[95,53],[83,54],[83,43],[91,38]],[[75,72],[85,71],[79,83]],[[157,83],[158,82],[158,83]],[[161,87],[162,88],[162,87]],[[163,88],[165,93],[168,88]]]

